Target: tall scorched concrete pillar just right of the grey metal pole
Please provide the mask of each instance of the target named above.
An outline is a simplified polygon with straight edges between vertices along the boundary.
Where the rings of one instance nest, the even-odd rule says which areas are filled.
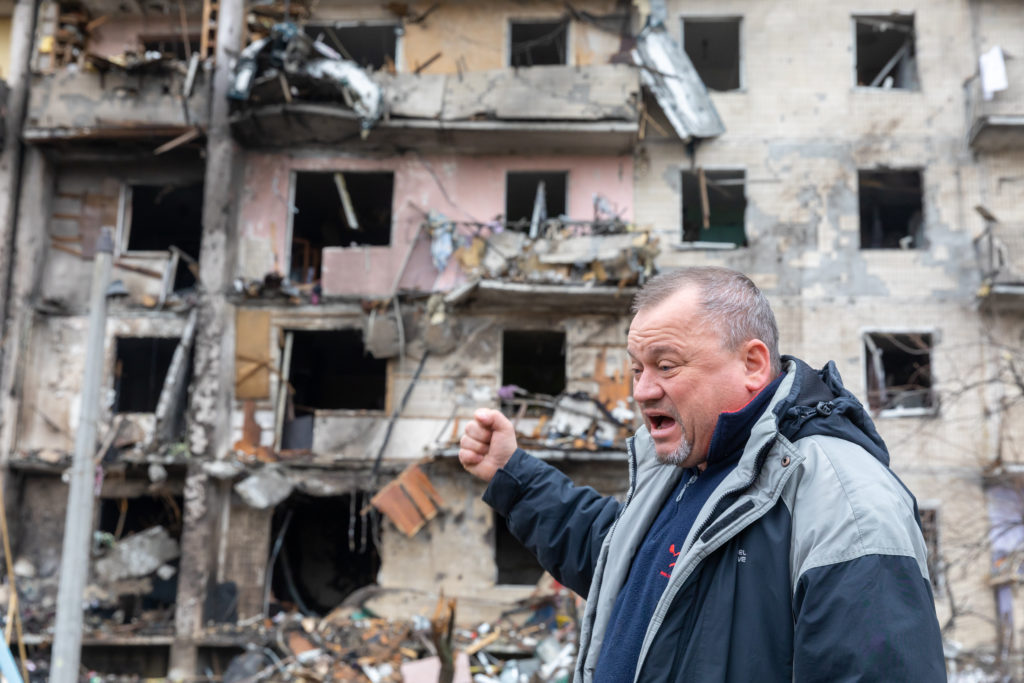
[[[197,673],[197,636],[202,627],[203,604],[211,580],[217,574],[215,558],[219,553],[211,549],[226,543],[218,528],[225,507],[222,501],[230,496],[229,482],[212,481],[203,463],[227,457],[230,446],[234,315],[226,295],[238,254],[234,206],[242,154],[231,137],[227,91],[236,55],[242,48],[245,16],[245,0],[220,1],[203,189],[202,289],[188,411],[191,460],[185,478],[170,680],[187,680]]]

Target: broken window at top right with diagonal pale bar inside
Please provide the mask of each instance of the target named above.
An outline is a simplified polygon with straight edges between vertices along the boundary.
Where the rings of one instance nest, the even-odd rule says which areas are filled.
[[[916,90],[913,15],[853,17],[857,85]]]

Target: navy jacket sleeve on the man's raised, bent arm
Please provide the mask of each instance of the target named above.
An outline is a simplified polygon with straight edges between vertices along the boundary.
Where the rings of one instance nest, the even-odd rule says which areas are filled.
[[[586,596],[620,503],[577,486],[551,465],[518,450],[483,493],[509,530],[559,583]]]

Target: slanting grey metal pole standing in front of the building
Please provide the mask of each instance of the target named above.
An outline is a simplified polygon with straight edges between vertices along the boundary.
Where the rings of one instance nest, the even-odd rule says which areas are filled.
[[[103,365],[103,337],[106,327],[106,286],[111,276],[114,240],[104,227],[96,243],[92,266],[92,294],[89,300],[89,333],[85,347],[81,411],[75,438],[75,459],[71,468],[71,492],[65,516],[63,551],[60,554],[60,587],[57,592],[56,625],[50,680],[76,683],[82,657],[82,594],[89,573],[92,531],[92,487],[95,476],[96,419],[99,408],[99,380]]]

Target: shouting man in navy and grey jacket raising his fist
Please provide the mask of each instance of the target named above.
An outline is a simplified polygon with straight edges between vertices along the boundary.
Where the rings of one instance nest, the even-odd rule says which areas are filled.
[[[741,273],[677,270],[634,301],[644,426],[620,504],[481,410],[459,458],[587,596],[574,680],[944,681],[916,503],[835,366],[778,355]]]

